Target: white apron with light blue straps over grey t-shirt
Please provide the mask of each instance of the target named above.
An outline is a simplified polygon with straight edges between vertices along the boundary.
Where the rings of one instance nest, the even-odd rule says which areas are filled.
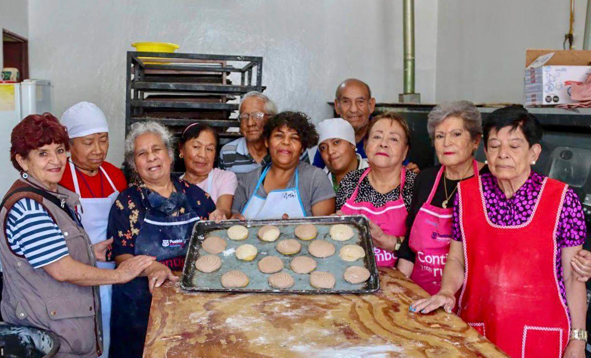
[[[242,209],[242,215],[246,219],[281,219],[283,214],[292,217],[305,217],[306,210],[301,201],[300,190],[298,189],[298,170],[296,169],[296,186],[282,190],[272,190],[267,194],[267,198],[256,195],[256,191],[261,186],[267,176],[271,166],[269,165],[261,174],[261,178],[256,183],[255,191],[251,198]]]

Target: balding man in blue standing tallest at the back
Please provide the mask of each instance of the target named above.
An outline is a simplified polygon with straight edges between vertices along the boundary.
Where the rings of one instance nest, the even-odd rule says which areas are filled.
[[[358,79],[346,79],[336,87],[335,112],[341,118],[349,122],[355,130],[355,147],[362,158],[367,158],[363,148],[363,138],[368,131],[369,119],[375,109],[375,98],[371,96],[371,89],[368,84]],[[312,164],[324,168],[326,163],[322,160],[320,151],[316,151]],[[408,170],[418,172],[414,163],[405,161]]]

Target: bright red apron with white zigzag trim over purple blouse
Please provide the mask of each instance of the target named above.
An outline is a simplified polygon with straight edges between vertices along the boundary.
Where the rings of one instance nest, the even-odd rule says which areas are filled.
[[[501,227],[486,217],[481,185],[471,178],[457,190],[466,263],[460,317],[511,357],[561,357],[570,321],[554,233],[567,186],[546,178],[530,220]]]

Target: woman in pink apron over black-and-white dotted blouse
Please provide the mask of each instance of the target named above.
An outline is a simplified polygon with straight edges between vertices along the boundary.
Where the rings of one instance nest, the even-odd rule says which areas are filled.
[[[409,148],[410,129],[400,115],[375,116],[365,139],[369,167],[346,174],[337,191],[339,214],[363,214],[369,219],[378,266],[395,265],[394,250],[406,234],[417,177],[402,165]]]

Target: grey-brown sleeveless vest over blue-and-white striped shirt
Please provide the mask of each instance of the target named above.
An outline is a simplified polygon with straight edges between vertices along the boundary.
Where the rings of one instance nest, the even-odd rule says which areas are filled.
[[[43,188],[30,177],[26,181],[15,181],[8,193],[28,186]],[[59,193],[48,193],[64,200],[71,208],[76,205],[76,193],[63,187],[59,187],[58,191]],[[4,271],[4,288],[0,302],[2,317],[8,323],[43,328],[56,333],[61,344],[57,357],[97,357],[102,352],[99,287],[59,282],[43,268],[34,269],[24,256],[12,252],[8,245],[6,217],[14,203],[24,197],[41,203],[53,217],[66,239],[72,259],[96,266],[88,235],[62,209],[35,193],[20,192],[12,195],[0,208],[0,260]]]

